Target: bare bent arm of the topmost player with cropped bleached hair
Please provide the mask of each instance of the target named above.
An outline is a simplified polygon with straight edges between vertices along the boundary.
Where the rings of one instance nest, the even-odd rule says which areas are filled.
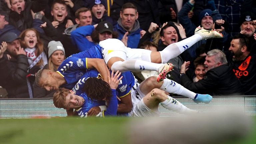
[[[110,75],[109,69],[103,59],[98,58],[87,58],[87,68],[92,69],[95,68],[103,77],[105,82],[108,81],[108,76]]]

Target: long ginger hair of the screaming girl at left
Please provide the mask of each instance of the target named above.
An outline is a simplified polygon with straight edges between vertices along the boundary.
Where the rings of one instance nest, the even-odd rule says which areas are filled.
[[[22,47],[27,47],[25,42],[24,42],[24,38],[25,38],[25,35],[28,31],[34,31],[36,33],[37,44],[36,44],[35,48],[36,48],[36,56],[38,57],[44,50],[44,44],[43,44],[42,41],[40,41],[39,32],[36,29],[29,28],[29,29],[25,29],[24,31],[21,32],[21,34],[19,36],[22,39],[21,46]],[[43,60],[42,59],[39,60],[39,62],[36,64],[36,66],[41,66],[41,65],[43,65]]]

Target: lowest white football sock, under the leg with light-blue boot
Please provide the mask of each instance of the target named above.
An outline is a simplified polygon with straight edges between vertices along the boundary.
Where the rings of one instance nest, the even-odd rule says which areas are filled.
[[[181,114],[198,113],[197,110],[192,110],[192,109],[187,108],[182,103],[180,103],[179,101],[177,101],[176,99],[174,99],[170,96],[168,96],[168,98],[165,101],[160,102],[160,104],[168,110],[175,111],[175,112],[178,112]]]

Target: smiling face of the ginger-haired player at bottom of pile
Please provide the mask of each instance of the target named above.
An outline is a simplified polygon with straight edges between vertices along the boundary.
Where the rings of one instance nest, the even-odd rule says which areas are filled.
[[[84,103],[83,97],[75,95],[73,93],[69,93],[66,96],[66,101],[64,103],[64,107],[67,109],[70,109],[70,108],[78,109],[78,108],[82,107],[83,103]]]

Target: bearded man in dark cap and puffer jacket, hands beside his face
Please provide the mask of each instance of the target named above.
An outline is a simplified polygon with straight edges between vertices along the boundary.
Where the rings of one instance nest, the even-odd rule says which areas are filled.
[[[29,64],[20,39],[13,32],[0,37],[0,85],[7,90],[8,98],[29,97],[26,81]]]

